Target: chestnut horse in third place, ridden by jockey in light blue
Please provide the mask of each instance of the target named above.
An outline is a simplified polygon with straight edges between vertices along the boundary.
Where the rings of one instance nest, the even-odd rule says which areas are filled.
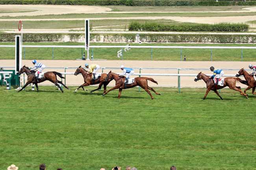
[[[104,92],[103,95],[106,95],[109,91],[111,90],[115,90],[115,89],[118,89],[119,88],[119,94],[118,94],[118,99],[120,99],[121,97],[121,93],[122,93],[122,90],[123,89],[126,89],[126,88],[133,88],[135,86],[141,86],[141,88],[143,88],[145,91],[148,92],[148,94],[150,95],[151,99],[154,99],[154,97],[152,96],[152,94],[150,93],[149,90],[151,91],[154,91],[154,93],[156,93],[157,95],[161,95],[160,93],[156,92],[153,88],[150,88],[148,86],[148,82],[147,80],[150,80],[156,84],[158,84],[157,81],[155,81],[154,79],[152,78],[148,78],[148,77],[136,77],[134,79],[134,82],[132,84],[124,84],[124,82],[126,81],[125,77],[124,76],[119,76],[118,74],[116,73],[112,73],[111,71],[109,71],[108,73],[108,77],[107,77],[108,80],[115,80],[115,87],[109,89],[107,92]],[[148,90],[149,89],[149,90]]]

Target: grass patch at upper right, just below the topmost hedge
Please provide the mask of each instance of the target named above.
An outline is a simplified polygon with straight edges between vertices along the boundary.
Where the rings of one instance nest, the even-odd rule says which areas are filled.
[[[125,5],[110,5],[102,6],[109,7],[112,11],[125,11],[125,12],[194,12],[194,11],[240,11],[245,7],[251,6],[193,6],[193,7],[169,7],[169,6],[125,6]]]

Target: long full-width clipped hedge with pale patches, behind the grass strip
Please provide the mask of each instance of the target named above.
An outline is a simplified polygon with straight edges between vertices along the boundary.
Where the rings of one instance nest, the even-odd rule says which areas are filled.
[[[15,33],[0,34],[0,42],[13,42]],[[63,42],[83,40],[83,34],[24,34],[24,42]],[[135,42],[135,34],[91,34],[91,42]],[[211,43],[256,43],[256,35],[209,35],[209,34],[140,34],[142,42],[211,42]]]

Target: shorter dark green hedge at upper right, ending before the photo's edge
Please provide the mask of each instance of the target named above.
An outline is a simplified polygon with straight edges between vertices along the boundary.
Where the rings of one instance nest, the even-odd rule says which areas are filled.
[[[249,29],[248,24],[182,24],[182,25],[164,25],[158,23],[139,23],[132,22],[129,25],[129,31],[225,31],[242,32]]]

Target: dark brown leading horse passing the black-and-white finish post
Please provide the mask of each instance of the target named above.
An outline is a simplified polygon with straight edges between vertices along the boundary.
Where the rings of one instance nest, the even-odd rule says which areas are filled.
[[[58,73],[56,71],[48,71],[44,74],[43,78],[38,79],[35,77],[35,71],[31,71],[28,67],[26,67],[25,65],[20,69],[19,74],[21,73],[26,73],[26,75],[28,76],[28,81],[26,82],[26,84],[19,90],[22,91],[26,86],[28,86],[28,84],[33,83],[35,84],[37,91],[38,91],[38,83],[44,82],[46,80],[49,80],[50,82],[52,82],[53,84],[55,84],[56,86],[58,86],[58,88],[61,90],[61,92],[63,93],[63,90],[61,89],[61,87],[59,86],[58,83],[62,84],[65,88],[67,88],[69,90],[69,88],[67,86],[65,86],[65,84],[63,84],[63,82],[57,80],[57,76],[58,75],[60,78],[65,79],[65,77],[62,77],[61,73]],[[19,92],[18,91],[18,92]]]

